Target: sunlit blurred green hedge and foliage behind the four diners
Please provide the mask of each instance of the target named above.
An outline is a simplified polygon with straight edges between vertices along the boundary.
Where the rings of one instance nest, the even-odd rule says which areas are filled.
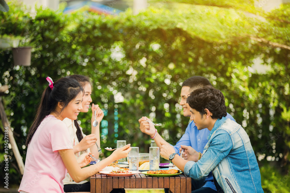
[[[125,139],[140,152],[148,152],[151,139],[139,131],[138,119],[149,116],[163,123],[159,133],[175,144],[189,122],[179,105],[181,84],[197,75],[224,93],[228,113],[245,128],[260,165],[265,166],[261,173],[267,173],[271,163],[288,174],[290,44],[285,21],[289,5],[267,14],[252,11],[257,15],[249,16],[244,12],[247,4],[231,2],[235,3],[163,3],[135,16],[131,10],[104,16],[64,15],[42,8],[30,16],[10,3],[9,12],[0,12],[0,34],[23,36],[34,45],[30,67],[13,66],[12,51],[0,50],[0,83],[9,85],[3,102],[23,160],[26,134],[48,85],[47,76],[53,80],[70,74],[89,76],[93,103],[105,111],[101,146],[115,147],[117,139]],[[255,70],[257,64],[263,72]],[[78,117],[86,134],[90,113]],[[16,163],[12,151],[10,155],[11,163]],[[17,170],[14,164],[10,171],[20,182]],[[269,178],[277,176],[276,172]],[[265,178],[271,184],[264,185]],[[262,179],[263,188],[274,191],[271,186],[277,184],[269,178]]]

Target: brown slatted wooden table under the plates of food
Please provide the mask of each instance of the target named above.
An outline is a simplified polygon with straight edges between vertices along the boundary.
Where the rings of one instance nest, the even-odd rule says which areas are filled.
[[[191,192],[191,178],[184,174],[172,177],[151,177],[135,174],[131,177],[109,177],[95,174],[90,177],[91,192],[110,192],[113,188],[169,188],[169,192]]]

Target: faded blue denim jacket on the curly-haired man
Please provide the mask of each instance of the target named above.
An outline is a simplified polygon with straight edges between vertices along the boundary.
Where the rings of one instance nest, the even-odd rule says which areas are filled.
[[[224,192],[264,192],[255,153],[246,131],[238,123],[218,119],[208,136],[203,155],[189,161],[184,173],[195,180],[213,172]]]

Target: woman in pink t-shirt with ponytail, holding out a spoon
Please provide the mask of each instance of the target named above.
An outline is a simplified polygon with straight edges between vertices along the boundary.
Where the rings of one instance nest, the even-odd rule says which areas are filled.
[[[68,128],[62,120],[77,119],[82,109],[84,89],[71,78],[61,78],[55,83],[49,77],[46,79],[50,84],[42,94],[28,133],[28,150],[19,192],[64,192],[62,180],[66,172],[75,182],[83,181],[113,161],[127,157],[131,150],[128,144],[99,163],[82,168],[90,163],[90,153],[75,158]]]

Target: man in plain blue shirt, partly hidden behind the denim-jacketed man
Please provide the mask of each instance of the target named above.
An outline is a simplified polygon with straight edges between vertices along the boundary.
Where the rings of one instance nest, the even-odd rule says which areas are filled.
[[[181,88],[181,101],[180,105],[183,108],[183,115],[185,117],[190,117],[190,107],[188,103],[186,103],[187,96],[194,91],[195,89],[204,87],[206,85],[210,85],[211,83],[207,78],[201,77],[201,76],[192,76],[191,78],[188,78],[182,83]],[[226,118],[229,118],[231,120],[234,120],[233,117],[229,114],[226,115]],[[154,125],[152,123],[147,122],[151,121],[147,117],[142,117],[139,119],[140,123],[140,130],[143,133],[146,133],[147,135],[150,135],[151,139],[154,139],[157,146],[161,148],[160,142],[169,144],[166,142],[158,133],[157,129],[155,129]],[[207,139],[207,136],[209,135],[210,131],[208,129],[198,130],[193,122],[189,123],[187,126],[184,135],[180,138],[180,140],[177,142],[177,144],[174,147],[175,152],[179,153],[180,145],[184,146],[191,146],[193,149],[195,149],[197,152],[203,152],[204,146],[206,146],[207,142],[209,141]],[[184,159],[187,159],[187,155],[183,153],[182,155]],[[208,192],[208,193],[216,193],[217,190],[215,188],[214,182],[213,182],[213,176],[212,173],[210,173],[206,179],[202,180],[191,180],[192,181],[192,193],[198,193],[198,192]]]

